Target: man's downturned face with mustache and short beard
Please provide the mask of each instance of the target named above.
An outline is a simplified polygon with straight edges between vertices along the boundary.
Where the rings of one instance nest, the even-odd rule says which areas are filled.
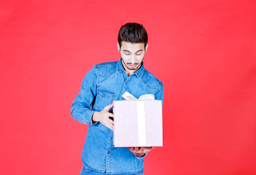
[[[144,43],[133,44],[122,41],[121,48],[119,46],[119,43],[117,43],[117,49],[121,55],[122,65],[128,76],[139,69],[143,61],[144,55],[147,51],[147,48],[148,44],[145,48]]]

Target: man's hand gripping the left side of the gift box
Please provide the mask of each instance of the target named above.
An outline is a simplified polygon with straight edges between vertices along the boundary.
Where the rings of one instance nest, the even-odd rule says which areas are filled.
[[[114,115],[109,112],[109,109],[112,108],[114,104],[107,105],[102,111],[96,111],[92,115],[92,121],[99,121],[104,126],[108,127],[111,130],[114,130],[114,121],[110,117],[114,118]]]

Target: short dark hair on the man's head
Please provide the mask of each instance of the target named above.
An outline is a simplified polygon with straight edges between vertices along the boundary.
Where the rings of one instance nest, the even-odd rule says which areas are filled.
[[[118,33],[118,43],[121,47],[122,41],[129,43],[144,43],[146,47],[148,43],[148,34],[143,25],[129,22],[125,25],[122,25]]]

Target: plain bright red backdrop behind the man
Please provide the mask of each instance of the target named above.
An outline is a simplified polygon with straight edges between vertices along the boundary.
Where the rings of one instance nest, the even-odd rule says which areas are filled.
[[[92,65],[119,59],[126,22],[148,31],[164,83],[145,175],[255,175],[254,0],[1,0],[0,173],[79,174],[88,126],[70,106]]]

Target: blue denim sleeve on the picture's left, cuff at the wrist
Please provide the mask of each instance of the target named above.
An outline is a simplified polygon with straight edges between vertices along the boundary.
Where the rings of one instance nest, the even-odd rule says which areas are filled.
[[[74,99],[71,106],[71,116],[81,123],[92,125],[92,115],[95,112],[91,109],[97,93],[97,76],[92,68],[84,77],[81,83],[81,90]]]

